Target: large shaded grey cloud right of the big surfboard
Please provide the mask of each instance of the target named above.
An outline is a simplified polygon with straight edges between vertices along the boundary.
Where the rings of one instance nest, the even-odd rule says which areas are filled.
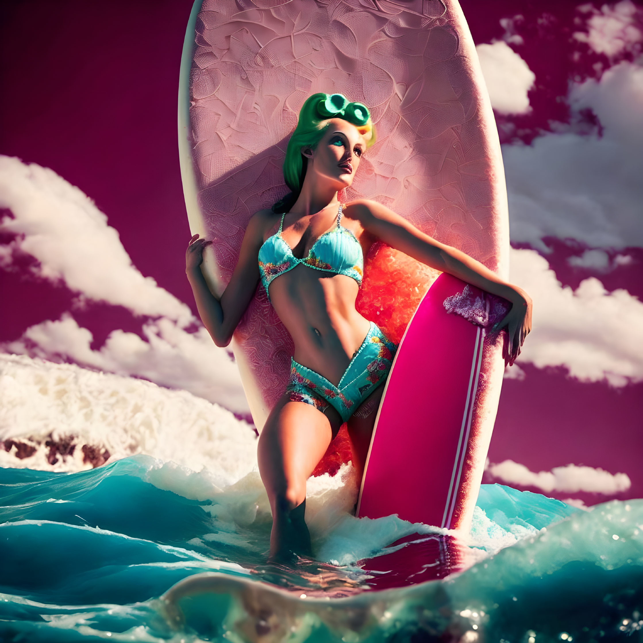
[[[543,237],[643,246],[643,69],[621,63],[570,99],[599,116],[602,136],[567,131],[502,147],[511,240],[543,252]]]

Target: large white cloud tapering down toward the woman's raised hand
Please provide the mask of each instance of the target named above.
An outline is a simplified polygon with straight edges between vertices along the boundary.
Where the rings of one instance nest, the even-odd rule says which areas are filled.
[[[132,266],[107,217],[53,170],[0,156],[0,208],[14,215],[0,231],[18,235],[15,249],[35,257],[45,278],[134,314],[189,322],[190,309]]]

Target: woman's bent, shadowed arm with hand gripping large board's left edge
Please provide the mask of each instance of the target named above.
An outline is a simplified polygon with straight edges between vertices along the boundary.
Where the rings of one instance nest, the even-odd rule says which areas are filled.
[[[230,343],[241,316],[257,288],[259,267],[257,257],[263,242],[267,213],[257,212],[249,221],[230,283],[218,300],[208,288],[201,272],[203,248],[211,242],[194,235],[185,252],[185,272],[192,286],[197,310],[203,325],[217,346]]]

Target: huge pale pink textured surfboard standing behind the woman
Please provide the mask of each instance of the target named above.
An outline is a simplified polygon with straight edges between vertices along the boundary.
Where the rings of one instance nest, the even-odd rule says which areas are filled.
[[[215,293],[230,280],[251,215],[287,192],[285,146],[303,101],[317,91],[368,105],[377,129],[344,201],[386,204],[506,276],[500,145],[456,1],[197,0],[181,65],[179,150],[192,233],[213,239],[204,274]],[[376,245],[358,310],[400,341],[436,277]],[[260,288],[233,350],[260,430],[292,354]],[[485,392],[471,422],[478,446],[466,455],[478,484],[500,394],[499,348],[484,345],[480,377]]]

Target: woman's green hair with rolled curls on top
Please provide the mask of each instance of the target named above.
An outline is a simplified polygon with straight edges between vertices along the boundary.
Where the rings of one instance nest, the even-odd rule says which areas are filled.
[[[368,107],[350,103],[343,94],[313,94],[306,99],[299,112],[297,127],[288,141],[284,159],[285,184],[292,190],[273,205],[273,212],[288,212],[302,191],[308,159],[302,148],[315,149],[331,123],[329,118],[341,118],[358,128],[360,134],[372,132],[367,147],[375,143],[375,127]]]

